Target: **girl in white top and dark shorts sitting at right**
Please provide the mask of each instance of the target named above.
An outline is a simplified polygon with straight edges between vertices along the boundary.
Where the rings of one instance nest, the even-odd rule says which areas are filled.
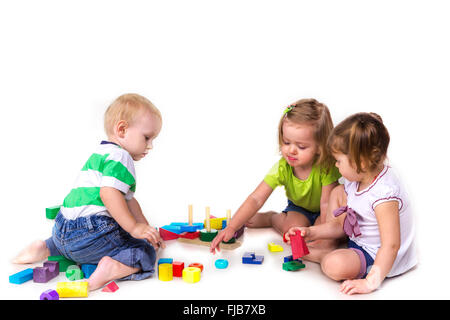
[[[293,227],[285,235],[289,240],[300,230],[307,241],[347,235],[347,249],[311,245],[304,257],[319,262],[328,277],[346,280],[341,291],[347,294],[372,292],[385,277],[417,264],[408,197],[393,169],[384,164],[389,140],[381,117],[374,113],[357,113],[336,126],[328,147],[344,185],[331,193],[327,222]]]

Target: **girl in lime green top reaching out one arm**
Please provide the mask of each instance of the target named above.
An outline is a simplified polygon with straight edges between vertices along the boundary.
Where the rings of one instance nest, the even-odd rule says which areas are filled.
[[[328,198],[340,178],[326,147],[332,129],[327,106],[315,99],[302,99],[286,108],[278,125],[282,158],[212,241],[211,252],[219,250],[219,243],[231,239],[244,224],[250,228],[272,226],[284,234],[292,226],[325,222]],[[273,190],[281,185],[288,198],[286,209],[282,213],[257,214]]]

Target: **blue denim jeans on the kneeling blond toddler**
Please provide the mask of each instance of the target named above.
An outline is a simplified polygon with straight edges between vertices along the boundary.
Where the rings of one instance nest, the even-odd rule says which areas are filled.
[[[142,239],[133,238],[108,216],[65,219],[58,213],[52,237],[46,241],[50,255],[63,255],[79,264],[97,264],[104,256],[139,271],[121,280],[142,280],[155,272],[156,251]]]

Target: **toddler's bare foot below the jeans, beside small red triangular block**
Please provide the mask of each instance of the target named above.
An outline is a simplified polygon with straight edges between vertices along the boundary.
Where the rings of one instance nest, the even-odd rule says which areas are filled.
[[[123,278],[138,271],[138,268],[129,267],[105,256],[99,261],[94,273],[88,279],[89,290],[97,290],[112,280]]]

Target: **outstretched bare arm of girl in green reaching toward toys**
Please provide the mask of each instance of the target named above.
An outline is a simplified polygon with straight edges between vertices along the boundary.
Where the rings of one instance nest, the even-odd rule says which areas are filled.
[[[230,240],[236,230],[261,209],[272,192],[273,189],[265,181],[262,181],[233,215],[230,225],[227,225],[211,242],[210,251],[212,253],[215,253],[216,249],[220,251],[220,242]]]

